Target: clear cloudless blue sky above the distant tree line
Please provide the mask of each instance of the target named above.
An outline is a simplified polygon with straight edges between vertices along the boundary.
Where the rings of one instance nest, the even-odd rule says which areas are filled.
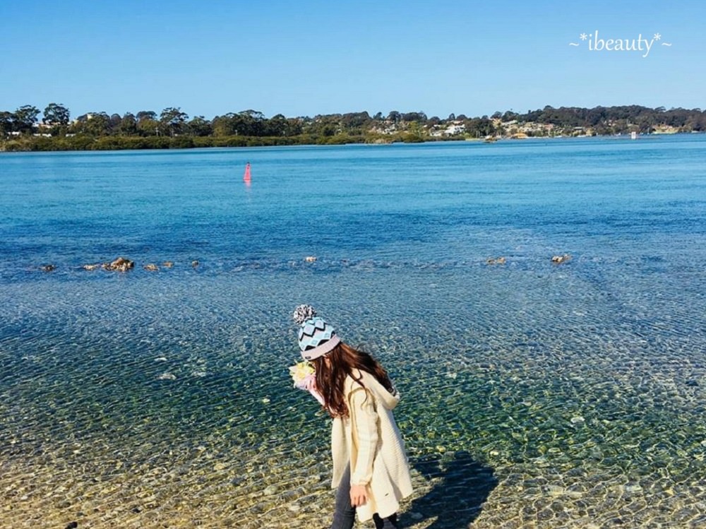
[[[662,40],[591,51],[596,30]],[[704,0],[0,0],[0,35],[0,110],[706,107]]]

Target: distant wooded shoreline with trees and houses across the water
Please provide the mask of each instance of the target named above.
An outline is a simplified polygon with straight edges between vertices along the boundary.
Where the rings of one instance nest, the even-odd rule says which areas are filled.
[[[42,118],[40,119],[40,114]],[[528,124],[532,124],[529,126]],[[513,111],[489,116],[450,114],[445,119],[424,112],[324,114],[314,117],[265,117],[262,112],[229,112],[213,119],[189,117],[180,107],[159,114],[88,112],[71,119],[64,105],[49,103],[43,112],[24,105],[0,111],[0,150],[88,150],[124,148],[188,148],[210,146],[391,143],[439,139],[508,136],[556,136],[577,131],[607,135],[650,133],[668,126],[679,132],[706,131],[701,109],[638,105],[621,107],[544,107],[525,114]]]

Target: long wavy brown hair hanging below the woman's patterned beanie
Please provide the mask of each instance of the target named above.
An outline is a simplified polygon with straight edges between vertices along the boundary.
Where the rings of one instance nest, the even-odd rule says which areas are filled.
[[[328,358],[330,362],[326,362]],[[354,349],[346,343],[339,343],[324,357],[312,360],[316,369],[316,388],[324,400],[324,407],[331,417],[347,417],[348,406],[343,394],[346,376],[359,380],[357,370],[368,372],[390,393],[395,388],[388,372],[366,352]],[[363,384],[361,382],[361,384]]]

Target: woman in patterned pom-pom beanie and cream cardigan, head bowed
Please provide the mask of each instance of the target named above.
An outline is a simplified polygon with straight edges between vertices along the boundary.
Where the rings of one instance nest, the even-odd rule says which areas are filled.
[[[397,528],[400,500],[412,494],[405,443],[393,409],[400,402],[385,369],[371,355],[343,343],[309,305],[294,310],[301,356],[316,369],[316,387],[333,418],[331,529],[371,518],[377,529]]]

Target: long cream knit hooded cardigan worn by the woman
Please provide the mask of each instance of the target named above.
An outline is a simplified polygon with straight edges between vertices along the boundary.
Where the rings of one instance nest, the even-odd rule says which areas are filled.
[[[348,417],[335,417],[331,429],[333,480],[336,488],[351,465],[351,485],[366,485],[368,501],[357,507],[358,519],[381,518],[400,509],[400,500],[412,494],[412,480],[405,443],[397,429],[393,408],[399,393],[391,395],[377,379],[364,371],[360,381],[348,376],[344,393]]]

